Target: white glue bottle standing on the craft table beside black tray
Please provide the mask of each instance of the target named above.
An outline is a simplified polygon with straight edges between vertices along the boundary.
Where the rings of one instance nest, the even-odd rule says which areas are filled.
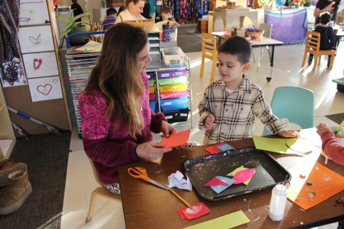
[[[269,217],[272,221],[281,221],[287,203],[287,187],[282,184],[276,185],[272,189]]]

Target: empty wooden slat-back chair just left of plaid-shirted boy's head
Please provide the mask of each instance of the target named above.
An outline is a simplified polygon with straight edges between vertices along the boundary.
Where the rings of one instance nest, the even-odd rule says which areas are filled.
[[[217,62],[217,50],[216,50],[216,36],[207,33],[202,33],[202,62],[199,78],[203,77],[204,73],[204,59],[208,58],[212,60],[212,71],[210,82],[214,81]]]

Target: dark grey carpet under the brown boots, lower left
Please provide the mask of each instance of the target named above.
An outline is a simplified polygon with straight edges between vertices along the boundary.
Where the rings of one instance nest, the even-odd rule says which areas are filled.
[[[66,184],[70,131],[17,138],[10,159],[27,164],[32,193],[9,215],[0,216],[1,229],[59,229]]]

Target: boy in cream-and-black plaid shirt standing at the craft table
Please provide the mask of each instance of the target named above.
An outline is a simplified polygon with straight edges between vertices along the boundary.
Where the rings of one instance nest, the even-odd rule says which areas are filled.
[[[245,73],[250,69],[252,47],[243,37],[233,36],[217,48],[221,79],[212,82],[198,105],[199,129],[205,129],[204,144],[250,138],[255,116],[269,130],[283,137],[299,137],[284,130],[287,118],[278,119],[265,102],[263,91]],[[288,95],[286,95],[288,96]]]

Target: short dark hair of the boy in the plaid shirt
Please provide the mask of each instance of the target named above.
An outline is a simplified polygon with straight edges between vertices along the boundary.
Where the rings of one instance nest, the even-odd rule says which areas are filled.
[[[246,64],[250,62],[252,47],[245,38],[232,36],[217,47],[217,52],[236,55],[241,64]]]

